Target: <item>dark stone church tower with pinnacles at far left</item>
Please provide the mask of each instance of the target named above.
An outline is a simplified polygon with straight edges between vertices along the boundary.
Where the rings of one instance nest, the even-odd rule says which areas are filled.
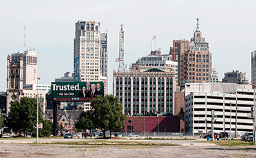
[[[23,57],[19,62],[11,61],[11,56],[7,57],[7,90],[6,90],[7,114],[10,111],[11,102],[20,101],[23,97]]]

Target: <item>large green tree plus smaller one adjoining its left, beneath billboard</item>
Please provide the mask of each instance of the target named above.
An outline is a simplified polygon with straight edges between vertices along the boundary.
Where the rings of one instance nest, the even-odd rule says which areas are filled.
[[[122,113],[123,106],[120,104],[119,98],[113,95],[105,97],[95,97],[90,106],[91,110],[82,112],[78,121],[75,123],[77,129],[95,129],[101,128],[105,131],[119,132],[123,128],[123,122],[126,116]]]

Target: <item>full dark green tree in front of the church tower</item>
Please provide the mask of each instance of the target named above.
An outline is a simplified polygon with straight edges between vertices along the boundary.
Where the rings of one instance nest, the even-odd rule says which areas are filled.
[[[38,120],[43,121],[41,115],[41,106],[38,104]],[[11,103],[10,112],[8,114],[8,127],[24,133],[26,131],[34,131],[37,122],[37,100],[34,98],[22,97],[20,102],[14,101]]]

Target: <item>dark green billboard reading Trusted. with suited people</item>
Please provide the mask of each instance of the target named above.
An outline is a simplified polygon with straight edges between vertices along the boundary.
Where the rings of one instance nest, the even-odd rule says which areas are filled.
[[[52,98],[104,96],[103,82],[52,82]]]

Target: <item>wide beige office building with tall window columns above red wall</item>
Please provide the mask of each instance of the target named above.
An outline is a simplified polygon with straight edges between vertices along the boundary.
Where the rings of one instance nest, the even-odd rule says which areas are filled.
[[[175,89],[175,72],[167,65],[132,64],[128,72],[113,72],[113,95],[119,97],[126,115],[156,111],[173,115]]]

